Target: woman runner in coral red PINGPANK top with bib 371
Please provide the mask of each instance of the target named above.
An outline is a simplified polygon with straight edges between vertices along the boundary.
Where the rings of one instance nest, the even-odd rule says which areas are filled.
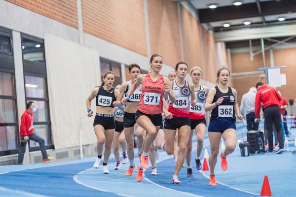
[[[140,127],[146,130],[146,137],[142,149],[143,154],[141,155],[141,164],[137,167],[138,181],[142,181],[143,179],[143,168],[149,168],[149,147],[151,143],[153,143],[160,125],[162,124],[162,98],[164,94],[168,94],[170,100],[174,102],[176,100],[170,80],[159,73],[162,68],[162,63],[163,58],[160,55],[152,55],[149,62],[151,68],[150,73],[139,75],[136,82],[132,85],[128,96],[122,100],[125,104],[136,88],[142,84],[142,96],[138,105],[138,110],[135,114],[135,119]]]

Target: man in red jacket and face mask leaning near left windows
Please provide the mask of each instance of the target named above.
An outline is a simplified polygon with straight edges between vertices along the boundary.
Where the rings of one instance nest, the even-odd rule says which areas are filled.
[[[39,143],[41,153],[42,153],[42,158],[43,158],[42,162],[48,162],[51,159],[53,159],[53,157],[47,157],[44,139],[42,139],[41,137],[39,137],[37,134],[34,133],[33,113],[35,113],[37,110],[35,103],[33,101],[28,102],[26,104],[26,109],[27,110],[23,113],[21,118],[21,128],[20,128],[21,144],[19,148],[17,164],[19,165],[23,164],[24,154],[26,152],[26,146],[29,139]]]

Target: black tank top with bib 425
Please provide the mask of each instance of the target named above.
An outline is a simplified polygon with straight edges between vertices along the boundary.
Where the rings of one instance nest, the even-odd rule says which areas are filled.
[[[112,102],[116,101],[114,91],[115,89],[113,87],[107,91],[103,88],[103,86],[100,86],[96,96],[97,106],[114,107],[112,104]]]

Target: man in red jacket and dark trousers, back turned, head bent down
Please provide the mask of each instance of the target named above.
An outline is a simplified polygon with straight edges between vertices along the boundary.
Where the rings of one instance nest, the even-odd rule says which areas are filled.
[[[274,124],[280,145],[280,148],[276,151],[276,153],[281,154],[284,152],[284,139],[280,113],[280,100],[282,98],[273,87],[264,85],[262,82],[258,82],[256,84],[256,88],[258,91],[255,99],[255,122],[259,121],[259,113],[262,102],[264,112],[264,126],[266,126],[268,138],[267,153],[272,153],[273,150],[272,124]]]

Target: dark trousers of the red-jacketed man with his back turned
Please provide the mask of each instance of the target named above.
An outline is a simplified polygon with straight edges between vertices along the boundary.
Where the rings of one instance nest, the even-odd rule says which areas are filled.
[[[272,124],[274,124],[277,132],[280,148],[284,148],[284,138],[282,130],[282,120],[280,108],[277,106],[268,106],[264,108],[264,125],[266,125],[267,138],[268,138],[268,150],[273,150],[273,135]]]

